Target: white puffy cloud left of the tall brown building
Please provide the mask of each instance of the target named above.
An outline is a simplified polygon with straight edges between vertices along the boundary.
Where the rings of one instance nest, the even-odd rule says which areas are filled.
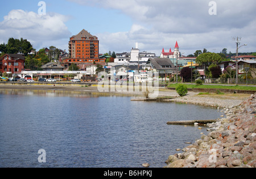
[[[67,39],[71,36],[65,26],[67,20],[66,16],[56,13],[39,15],[23,10],[11,10],[0,22],[0,41],[7,43],[11,37],[23,38],[30,41],[36,49],[50,45],[65,48],[68,46]]]

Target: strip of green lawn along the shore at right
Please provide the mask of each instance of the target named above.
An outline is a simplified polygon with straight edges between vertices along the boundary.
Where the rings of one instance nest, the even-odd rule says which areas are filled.
[[[167,87],[168,88],[176,88],[178,84],[170,84]],[[206,88],[206,89],[235,89],[235,90],[251,90],[256,91],[256,86],[230,86],[230,85],[191,85],[191,84],[184,84],[187,86],[187,88]]]

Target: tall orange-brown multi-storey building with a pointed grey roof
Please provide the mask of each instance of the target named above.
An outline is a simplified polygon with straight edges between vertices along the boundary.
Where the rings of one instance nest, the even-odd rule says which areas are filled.
[[[86,30],[82,30],[77,35],[73,35],[68,45],[69,59],[64,59],[65,64],[105,63],[105,59],[100,59],[98,56],[99,40],[97,36],[91,35]]]

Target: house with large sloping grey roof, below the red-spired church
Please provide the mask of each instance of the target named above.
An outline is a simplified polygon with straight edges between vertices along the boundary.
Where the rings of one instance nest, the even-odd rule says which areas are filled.
[[[167,58],[154,58],[149,59],[152,65],[152,68],[159,72],[159,75],[170,76],[176,73],[176,68],[172,61]]]

